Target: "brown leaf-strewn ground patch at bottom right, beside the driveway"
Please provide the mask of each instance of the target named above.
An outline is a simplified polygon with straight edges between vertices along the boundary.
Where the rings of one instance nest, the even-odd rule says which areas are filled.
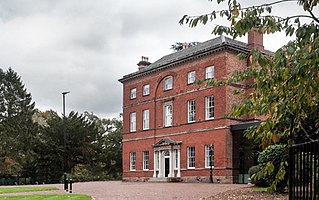
[[[229,190],[216,194],[203,200],[287,200],[288,194],[270,194],[266,192],[254,192],[252,188]]]

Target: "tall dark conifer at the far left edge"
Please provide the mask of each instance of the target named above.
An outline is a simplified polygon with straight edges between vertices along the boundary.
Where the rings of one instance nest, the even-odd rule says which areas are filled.
[[[0,69],[0,162],[9,167],[0,174],[21,173],[32,157],[30,146],[37,130],[32,121],[34,105],[21,77],[11,68]]]

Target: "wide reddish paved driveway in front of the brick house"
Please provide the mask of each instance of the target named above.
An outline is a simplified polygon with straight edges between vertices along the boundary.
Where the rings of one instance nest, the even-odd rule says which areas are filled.
[[[65,193],[62,184],[44,185],[57,187],[60,190],[33,192],[32,194]],[[41,187],[39,185],[39,187]],[[249,187],[240,184],[208,183],[147,183],[147,182],[85,182],[73,184],[73,193],[87,194],[95,200],[143,200],[143,199],[189,199],[199,200],[214,194]],[[25,193],[31,194],[31,193]],[[0,195],[1,197],[2,195]]]

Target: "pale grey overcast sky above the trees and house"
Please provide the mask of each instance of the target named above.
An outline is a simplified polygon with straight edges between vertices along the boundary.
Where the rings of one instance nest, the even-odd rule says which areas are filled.
[[[191,29],[178,21],[220,8],[208,0],[0,0],[0,67],[22,77],[42,111],[61,113],[61,93],[70,91],[67,113],[117,117],[118,79],[136,71],[141,56],[154,62],[175,42],[216,37],[212,24]],[[277,12],[296,10],[290,3]],[[265,36],[264,45],[275,51],[288,39]]]

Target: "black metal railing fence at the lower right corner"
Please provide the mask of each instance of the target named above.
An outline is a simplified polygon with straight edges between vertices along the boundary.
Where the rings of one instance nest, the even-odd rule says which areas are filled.
[[[319,140],[289,149],[289,199],[319,199]]]

